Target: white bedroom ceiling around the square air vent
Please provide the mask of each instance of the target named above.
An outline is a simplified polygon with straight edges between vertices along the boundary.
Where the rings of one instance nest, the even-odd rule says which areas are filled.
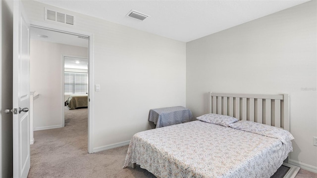
[[[309,0],[37,0],[110,22],[189,42]],[[131,10],[151,17],[127,17]]]

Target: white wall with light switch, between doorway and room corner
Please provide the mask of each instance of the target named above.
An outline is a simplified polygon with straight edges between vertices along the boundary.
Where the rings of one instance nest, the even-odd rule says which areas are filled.
[[[44,7],[23,1],[31,23],[44,21]],[[62,10],[62,9],[60,9]],[[93,147],[95,150],[126,143],[132,135],[150,129],[151,108],[185,106],[186,44],[90,17],[76,16],[75,27],[93,34],[94,92]],[[39,98],[40,99],[40,98]]]

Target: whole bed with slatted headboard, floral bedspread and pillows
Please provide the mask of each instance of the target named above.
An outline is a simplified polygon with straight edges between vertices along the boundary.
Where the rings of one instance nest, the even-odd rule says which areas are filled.
[[[135,134],[123,167],[161,178],[270,178],[292,151],[288,97],[210,92],[211,114]]]

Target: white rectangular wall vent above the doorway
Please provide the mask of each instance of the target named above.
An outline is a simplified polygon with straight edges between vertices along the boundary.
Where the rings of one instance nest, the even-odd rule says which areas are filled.
[[[54,22],[59,22],[63,24],[68,24],[68,25],[74,25],[75,24],[75,17],[72,15],[68,15],[66,13],[62,12],[57,12],[56,10],[53,9],[45,9],[45,20],[46,21],[54,21]]]

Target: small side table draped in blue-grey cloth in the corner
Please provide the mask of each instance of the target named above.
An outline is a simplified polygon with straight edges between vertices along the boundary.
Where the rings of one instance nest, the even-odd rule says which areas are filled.
[[[192,112],[183,106],[150,109],[149,121],[156,124],[156,128],[193,121]]]

